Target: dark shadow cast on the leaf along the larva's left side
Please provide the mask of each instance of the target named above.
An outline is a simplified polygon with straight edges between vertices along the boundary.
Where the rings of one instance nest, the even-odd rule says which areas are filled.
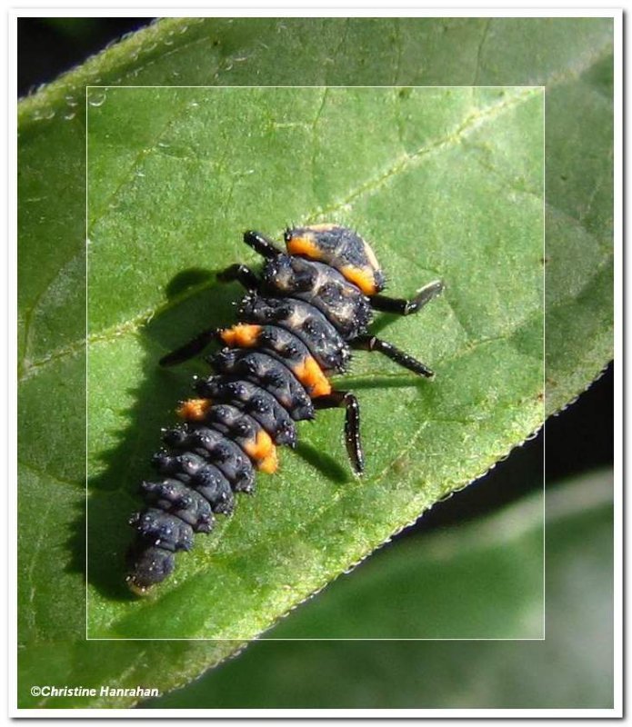
[[[177,298],[187,287],[215,275],[185,271],[176,275],[167,290]],[[154,472],[150,462],[160,446],[160,429],[176,423],[174,409],[190,395],[192,374],[210,373],[199,358],[173,368],[161,368],[158,361],[201,330],[235,321],[235,303],[241,293],[236,284],[212,283],[166,307],[138,333],[145,355],[140,383],[132,392],[134,404],[125,412],[128,425],[116,433],[115,447],[104,453],[103,473],[88,481],[87,578],[110,599],[133,598],[125,585],[126,553],[134,537],[128,520],[143,506],[139,484]],[[84,526],[77,524],[77,541],[81,537],[83,543],[75,543],[75,553],[85,549],[85,530],[79,532]]]

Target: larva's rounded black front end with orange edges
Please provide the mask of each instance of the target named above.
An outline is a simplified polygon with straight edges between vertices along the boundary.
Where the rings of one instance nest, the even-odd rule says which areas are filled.
[[[365,295],[384,289],[385,278],[369,244],[353,230],[337,224],[313,224],[287,229],[287,252],[335,268]]]

